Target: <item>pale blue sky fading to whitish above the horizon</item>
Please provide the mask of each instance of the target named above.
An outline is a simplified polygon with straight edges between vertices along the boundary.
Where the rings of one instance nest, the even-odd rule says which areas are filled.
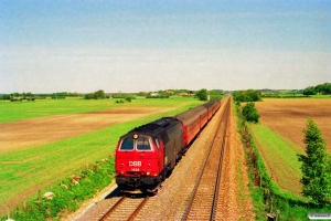
[[[325,82],[330,0],[0,1],[0,93]]]

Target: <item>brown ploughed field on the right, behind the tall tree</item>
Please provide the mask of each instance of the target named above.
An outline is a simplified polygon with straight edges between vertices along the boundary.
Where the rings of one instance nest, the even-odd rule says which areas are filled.
[[[255,107],[263,124],[303,149],[302,130],[307,128],[307,118],[312,118],[321,129],[331,152],[331,99],[266,98],[264,102],[256,102]]]

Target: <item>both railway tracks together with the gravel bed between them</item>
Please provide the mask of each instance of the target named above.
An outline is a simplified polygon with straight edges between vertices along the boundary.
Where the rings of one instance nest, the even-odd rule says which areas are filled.
[[[115,193],[98,203],[99,209],[96,208],[76,221],[215,220],[214,217],[220,215],[217,209],[213,209],[217,207],[217,180],[222,167],[218,162],[222,161],[225,138],[228,136],[225,128],[231,113],[231,99],[223,104],[224,107],[200,135],[202,139],[197,139],[189,149],[157,196],[131,199]],[[104,212],[106,210],[107,213]]]

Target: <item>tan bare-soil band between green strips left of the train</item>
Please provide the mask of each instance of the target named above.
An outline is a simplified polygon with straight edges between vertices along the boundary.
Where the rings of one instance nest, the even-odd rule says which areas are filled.
[[[170,109],[164,107],[116,107],[85,114],[57,115],[0,124],[0,154],[83,135]]]

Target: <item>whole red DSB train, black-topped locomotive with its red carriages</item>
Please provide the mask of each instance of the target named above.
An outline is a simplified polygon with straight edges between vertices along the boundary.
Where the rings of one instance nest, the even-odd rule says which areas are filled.
[[[211,101],[121,136],[116,148],[118,188],[129,192],[154,192],[220,106],[221,101]]]

